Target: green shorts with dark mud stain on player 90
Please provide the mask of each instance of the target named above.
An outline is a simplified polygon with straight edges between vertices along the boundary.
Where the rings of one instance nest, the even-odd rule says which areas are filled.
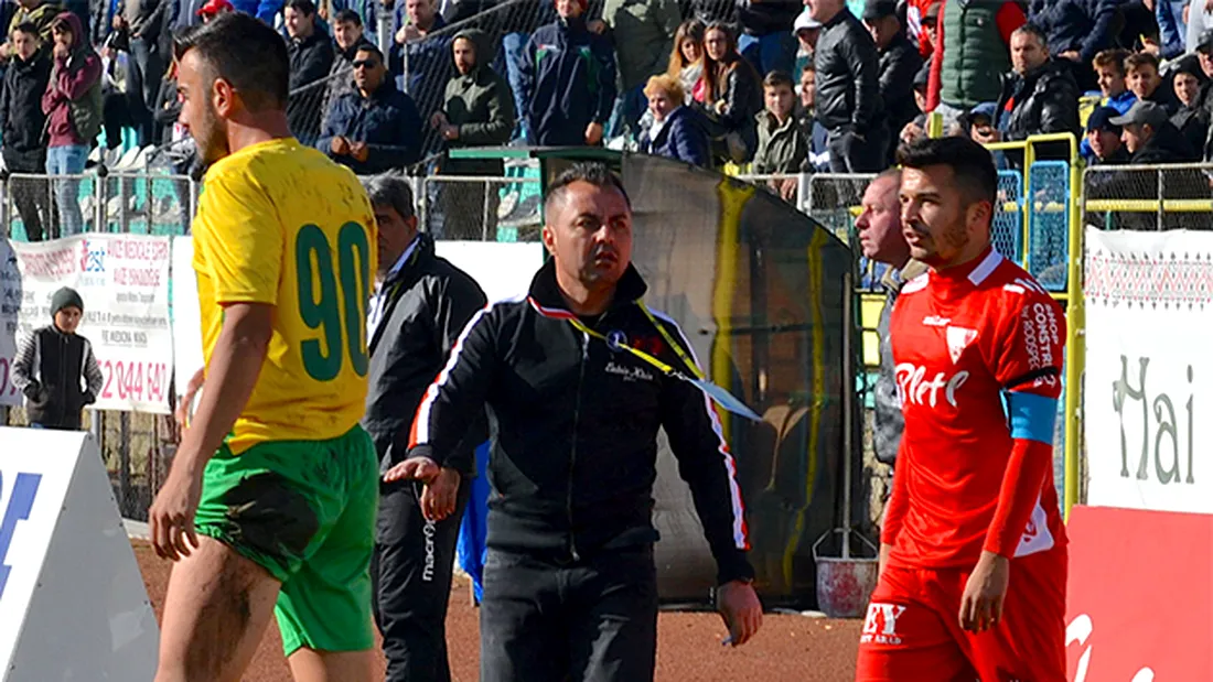
[[[370,561],[378,459],[354,426],[329,441],[272,441],[206,464],[194,526],[283,583],[274,607],[283,648],[364,651],[371,634]]]

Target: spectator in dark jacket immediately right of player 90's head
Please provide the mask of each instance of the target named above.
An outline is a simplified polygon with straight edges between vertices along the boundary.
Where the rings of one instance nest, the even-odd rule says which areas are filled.
[[[324,114],[324,79],[332,68],[332,41],[317,27],[312,0],[290,0],[283,15],[290,35],[286,47],[291,59],[286,121],[291,134],[301,143],[315,144]]]

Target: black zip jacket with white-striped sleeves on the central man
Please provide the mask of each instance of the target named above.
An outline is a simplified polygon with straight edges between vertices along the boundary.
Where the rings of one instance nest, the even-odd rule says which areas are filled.
[[[615,303],[582,320],[664,362],[683,362],[637,305],[645,283],[630,267]],[[708,400],[694,385],[570,323],[554,262],[525,298],[495,303],[463,331],[412,428],[410,457],[462,469],[467,414],[488,406],[489,538],[492,549],[553,561],[657,539],[653,527],[657,429],[664,428],[704,525],[717,579],[752,578],[734,464]],[[656,317],[690,356],[670,319]]]

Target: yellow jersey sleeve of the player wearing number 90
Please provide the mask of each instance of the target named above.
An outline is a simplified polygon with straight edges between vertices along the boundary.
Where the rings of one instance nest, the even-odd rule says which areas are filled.
[[[221,174],[200,204],[222,217],[198,243],[215,302],[277,305],[286,235],[270,195],[244,173]]]

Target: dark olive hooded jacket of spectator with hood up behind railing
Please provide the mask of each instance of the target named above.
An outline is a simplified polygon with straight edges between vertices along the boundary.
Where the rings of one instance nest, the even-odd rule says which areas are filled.
[[[514,130],[514,98],[506,79],[491,68],[492,44],[479,29],[461,31],[459,39],[475,45],[475,67],[465,75],[452,65],[457,75],[446,82],[443,113],[446,122],[459,126],[459,138],[446,141],[446,149],[505,145]],[[454,50],[451,55],[454,64]],[[449,176],[500,176],[505,168],[500,160],[448,159],[442,170]]]

